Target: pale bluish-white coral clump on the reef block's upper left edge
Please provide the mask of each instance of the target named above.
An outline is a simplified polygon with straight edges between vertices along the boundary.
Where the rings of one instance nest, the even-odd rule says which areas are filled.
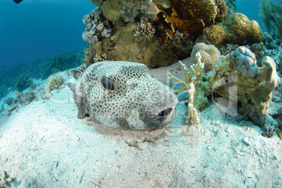
[[[86,24],[86,29],[82,38],[88,43],[95,43],[112,35],[112,24],[102,16],[102,11],[99,9],[92,10],[85,15],[83,24]]]

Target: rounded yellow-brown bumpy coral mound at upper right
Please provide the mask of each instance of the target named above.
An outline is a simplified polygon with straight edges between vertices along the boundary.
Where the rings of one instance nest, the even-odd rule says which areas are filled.
[[[203,40],[217,48],[227,43],[253,44],[262,41],[262,30],[255,21],[248,20],[246,15],[235,13],[224,22],[208,27],[203,33]]]

